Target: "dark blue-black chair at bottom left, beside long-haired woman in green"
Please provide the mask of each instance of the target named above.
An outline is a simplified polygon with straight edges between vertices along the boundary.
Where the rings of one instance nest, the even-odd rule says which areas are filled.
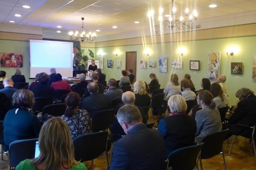
[[[8,157],[9,167],[16,167],[20,161],[35,158],[35,144],[38,139],[17,140],[10,144]]]

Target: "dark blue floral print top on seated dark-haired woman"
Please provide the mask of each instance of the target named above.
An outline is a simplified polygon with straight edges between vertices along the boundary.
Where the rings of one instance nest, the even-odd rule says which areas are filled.
[[[67,122],[73,140],[76,136],[91,132],[90,116],[86,110],[79,109],[75,111],[72,117],[62,115],[61,118]]]

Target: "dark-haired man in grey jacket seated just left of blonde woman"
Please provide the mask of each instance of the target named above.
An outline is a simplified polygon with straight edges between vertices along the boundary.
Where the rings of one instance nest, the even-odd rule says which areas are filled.
[[[105,93],[106,96],[112,101],[122,98],[123,91],[120,88],[116,88],[116,80],[109,79],[108,81],[108,91]]]

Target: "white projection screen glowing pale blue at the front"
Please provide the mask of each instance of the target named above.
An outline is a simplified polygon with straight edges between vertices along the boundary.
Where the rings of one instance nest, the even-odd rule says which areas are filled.
[[[56,68],[62,77],[73,77],[73,42],[29,40],[30,78]]]

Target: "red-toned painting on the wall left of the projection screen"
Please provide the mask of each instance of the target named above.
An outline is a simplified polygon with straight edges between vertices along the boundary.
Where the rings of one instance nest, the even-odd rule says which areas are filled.
[[[0,53],[1,67],[22,67],[23,55],[20,53]]]

